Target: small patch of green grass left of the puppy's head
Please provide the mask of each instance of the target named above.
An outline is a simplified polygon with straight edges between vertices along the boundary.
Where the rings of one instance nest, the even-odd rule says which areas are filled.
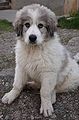
[[[13,31],[12,23],[7,20],[0,20],[0,30],[10,32]]]

